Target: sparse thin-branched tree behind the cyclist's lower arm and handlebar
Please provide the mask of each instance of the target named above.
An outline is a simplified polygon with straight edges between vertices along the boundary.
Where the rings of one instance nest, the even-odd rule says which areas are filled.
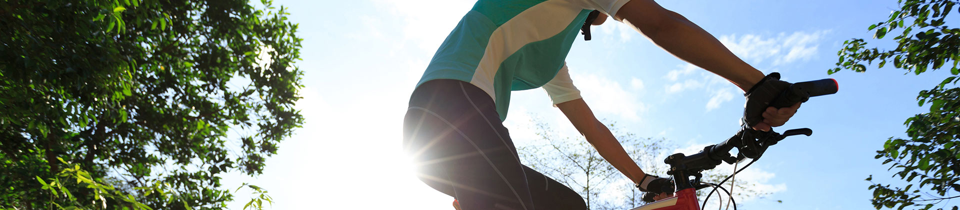
[[[633,181],[613,168],[583,136],[561,137],[557,135],[556,130],[540,119],[534,119],[532,123],[537,128],[540,139],[534,139],[517,148],[520,160],[525,165],[577,191],[587,202],[588,209],[632,209],[644,203],[643,194],[636,189]],[[615,125],[608,127],[644,172],[666,175],[667,167],[663,163],[663,158],[672,154],[671,152],[676,149],[674,146],[664,139],[642,138],[634,133],[621,131]],[[727,177],[723,173],[728,172],[716,171],[705,172],[703,181],[719,183]],[[729,186],[726,187],[730,189]],[[732,192],[735,198],[762,198],[770,195],[769,192],[757,190],[756,183],[744,183],[739,180],[735,187],[736,189]],[[697,191],[697,196],[704,200],[708,192],[708,190]],[[718,199],[717,194],[712,197],[711,200],[726,200]],[[709,206],[717,204],[710,203]]]

